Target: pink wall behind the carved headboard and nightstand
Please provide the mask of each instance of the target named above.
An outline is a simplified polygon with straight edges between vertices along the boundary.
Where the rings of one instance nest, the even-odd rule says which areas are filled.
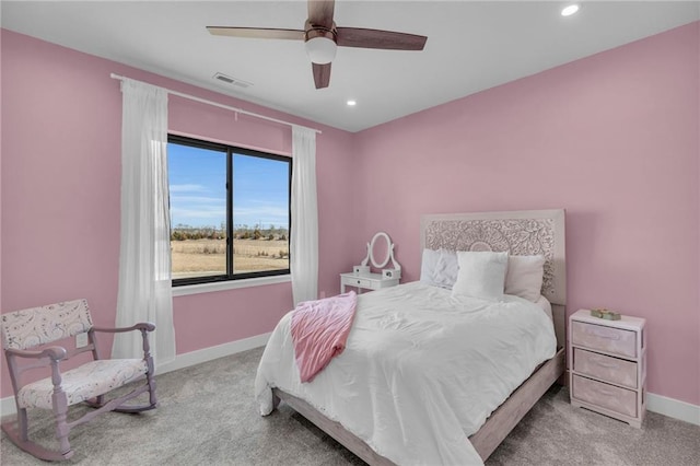
[[[645,317],[651,393],[700,404],[699,24],[359,135],[368,236],[419,278],[423,213],[567,209],[568,312]]]

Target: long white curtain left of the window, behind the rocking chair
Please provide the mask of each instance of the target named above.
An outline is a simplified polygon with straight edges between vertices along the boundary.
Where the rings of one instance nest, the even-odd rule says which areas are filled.
[[[152,322],[158,365],[175,359],[167,179],[167,91],[121,81],[121,243],[117,327]],[[140,331],[115,336],[113,358],[142,358]]]

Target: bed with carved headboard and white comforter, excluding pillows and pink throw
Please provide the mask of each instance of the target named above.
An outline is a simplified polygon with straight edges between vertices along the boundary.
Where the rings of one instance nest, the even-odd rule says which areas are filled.
[[[290,313],[272,333],[258,369],[256,399],[262,415],[283,400],[371,465],[478,464],[489,457],[564,372],[564,211],[423,215],[421,248],[423,259],[427,249],[544,256],[540,294],[551,316],[542,317],[541,307],[522,298],[505,295],[485,304],[422,281],[365,293],[358,298],[346,351],[314,382],[301,384],[285,329]],[[500,315],[509,317],[493,317]],[[479,331],[474,330],[477,322]],[[370,327],[389,331],[377,338],[383,346],[369,339],[375,338]],[[490,334],[482,330],[487,327]],[[413,329],[421,337],[407,339]],[[468,338],[448,338],[455,333]],[[535,339],[515,342],[516,334]],[[463,340],[478,343],[462,347]],[[511,348],[503,353],[508,358],[485,369],[501,378],[489,380],[472,369],[481,368],[472,354],[495,358],[508,345],[527,349]],[[467,350],[468,358],[451,357]],[[525,353],[534,359],[517,359]],[[425,369],[416,370],[415,361],[422,359]],[[459,365],[465,370],[454,370],[455,363],[466,364]]]

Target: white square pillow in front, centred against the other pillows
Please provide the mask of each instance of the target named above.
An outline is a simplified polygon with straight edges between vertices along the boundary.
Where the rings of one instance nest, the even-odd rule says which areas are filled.
[[[459,271],[452,295],[467,295],[489,301],[503,299],[508,252],[457,252]]]

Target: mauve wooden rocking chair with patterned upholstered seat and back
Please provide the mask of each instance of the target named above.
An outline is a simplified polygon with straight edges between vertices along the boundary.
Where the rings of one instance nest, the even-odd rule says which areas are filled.
[[[156,406],[153,359],[150,353],[148,334],[155,329],[151,323],[132,327],[95,327],[88,301],[75,300],[42,307],[26,308],[2,314],[2,348],[8,361],[10,378],[18,409],[16,421],[2,423],[2,431],[20,448],[46,461],[68,459],[73,455],[68,434],[79,424],[90,421],[105,411],[140,412]],[[141,331],[143,336],[142,359],[102,359],[96,343],[97,333]],[[58,340],[88,334],[88,345],[67,350],[60,346],[47,346]],[[66,372],[60,362],[83,352],[92,352],[92,360]],[[22,374],[30,370],[50,368],[50,376],[24,384]],[[105,400],[105,395],[115,388],[145,378],[145,384]],[[148,392],[148,403],[127,404],[128,400]],[[79,419],[68,420],[68,407],[85,401],[96,408]],[[59,450],[49,450],[28,438],[27,409],[40,408],[54,411],[56,438]]]

